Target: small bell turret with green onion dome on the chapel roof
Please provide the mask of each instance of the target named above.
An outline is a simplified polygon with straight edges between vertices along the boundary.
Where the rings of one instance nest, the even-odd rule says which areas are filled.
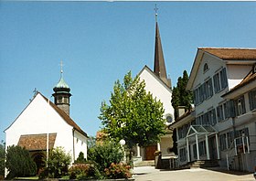
[[[69,93],[70,88],[63,79],[62,62],[60,63],[60,67],[60,79],[57,85],[53,88],[54,93],[52,96],[54,97],[54,103],[69,115],[69,98],[71,96]]]

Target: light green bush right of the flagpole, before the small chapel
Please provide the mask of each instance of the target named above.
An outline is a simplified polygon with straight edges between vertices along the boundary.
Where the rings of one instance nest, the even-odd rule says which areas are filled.
[[[61,176],[67,176],[71,156],[66,154],[62,147],[53,148],[48,154],[48,162],[46,163],[48,166],[40,170],[40,178],[59,178]]]

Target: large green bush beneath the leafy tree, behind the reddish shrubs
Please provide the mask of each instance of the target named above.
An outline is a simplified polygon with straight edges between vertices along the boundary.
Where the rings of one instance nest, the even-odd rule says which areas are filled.
[[[88,160],[94,161],[98,165],[101,173],[105,168],[109,168],[112,163],[120,163],[123,159],[120,144],[104,142],[96,144],[88,150]]]

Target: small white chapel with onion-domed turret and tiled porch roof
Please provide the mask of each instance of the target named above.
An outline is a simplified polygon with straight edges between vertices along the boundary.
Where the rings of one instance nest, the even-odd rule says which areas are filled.
[[[74,162],[80,152],[87,157],[87,133],[69,117],[68,84],[63,80],[54,87],[55,103],[37,92],[33,100],[16,120],[5,129],[6,148],[10,145],[25,147],[37,164],[43,166],[48,150],[61,146]]]

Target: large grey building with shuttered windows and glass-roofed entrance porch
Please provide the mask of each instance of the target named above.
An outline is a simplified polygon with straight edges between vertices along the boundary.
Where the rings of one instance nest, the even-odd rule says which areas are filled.
[[[218,160],[221,167],[256,165],[256,49],[198,48],[187,90],[195,110],[171,125],[179,164]]]

